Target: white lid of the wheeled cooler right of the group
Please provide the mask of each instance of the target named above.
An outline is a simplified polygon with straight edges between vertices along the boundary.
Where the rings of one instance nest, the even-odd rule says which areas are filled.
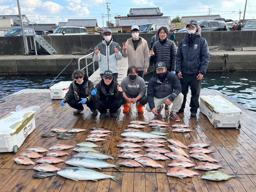
[[[217,113],[241,113],[242,111],[223,97],[216,95],[200,96]]]

